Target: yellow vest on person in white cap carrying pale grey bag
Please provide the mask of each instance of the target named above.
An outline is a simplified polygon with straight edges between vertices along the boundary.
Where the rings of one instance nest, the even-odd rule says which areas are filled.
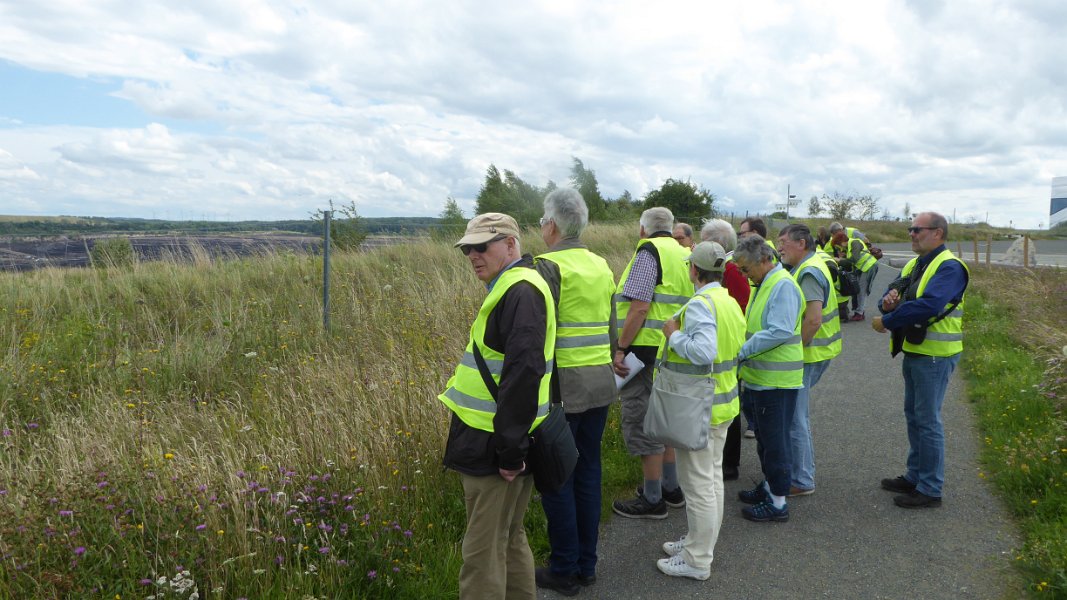
[[[740,412],[737,393],[737,352],[745,343],[745,316],[730,293],[720,286],[705,289],[692,297],[690,302],[702,302],[715,316],[715,362],[710,365],[695,365],[667,346],[667,360],[662,368],[692,377],[711,377],[715,380],[715,395],[712,397],[712,425],[726,423]],[[679,325],[685,330],[687,303],[679,314]],[[660,357],[662,359],[663,357]]]

